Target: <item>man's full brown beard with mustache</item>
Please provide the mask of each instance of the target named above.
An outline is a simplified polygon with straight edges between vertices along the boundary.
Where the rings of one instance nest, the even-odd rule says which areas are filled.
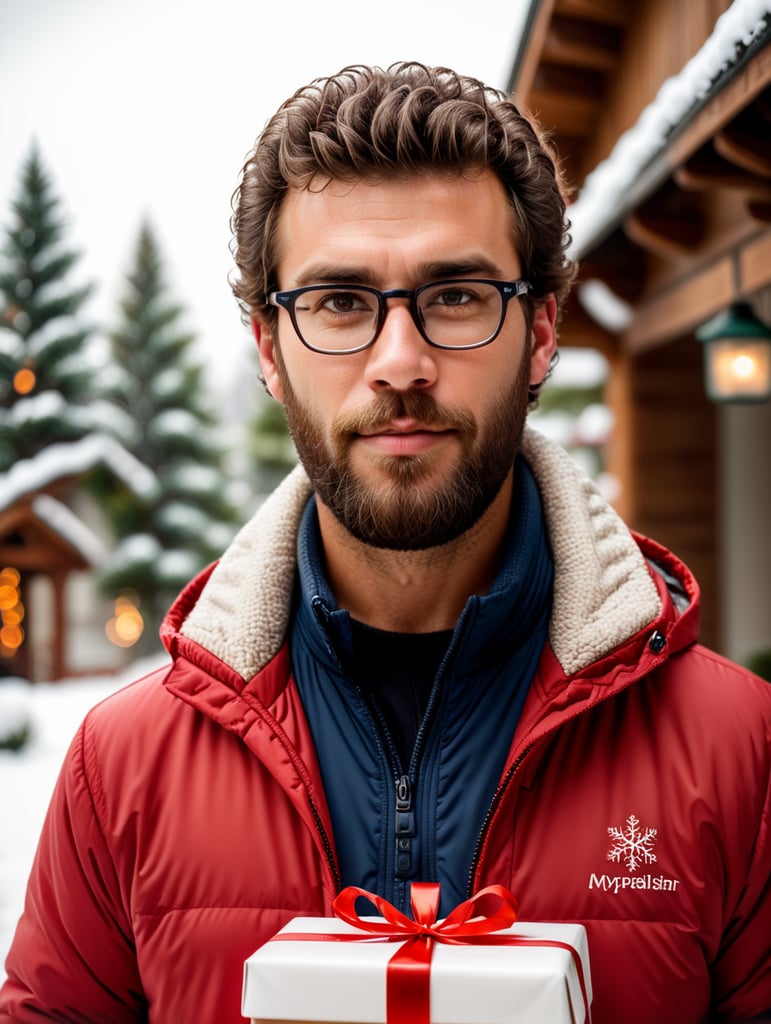
[[[348,532],[365,544],[421,551],[456,540],[489,508],[514,465],[527,417],[527,348],[513,385],[480,423],[466,410],[439,406],[425,391],[384,391],[366,408],[335,420],[329,441],[324,425],[292,389],[281,356],[276,365],[290,432],[313,489]],[[436,473],[431,453],[381,458],[381,478],[376,482],[360,479],[353,470],[350,452],[355,436],[387,428],[399,417],[456,432],[460,456],[438,483],[426,482]]]

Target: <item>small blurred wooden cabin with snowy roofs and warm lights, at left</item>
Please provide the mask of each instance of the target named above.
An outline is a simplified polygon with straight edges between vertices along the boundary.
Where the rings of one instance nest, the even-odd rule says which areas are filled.
[[[96,574],[115,539],[85,483],[97,468],[137,494],[154,475],[110,437],[51,444],[0,474],[0,677],[112,672],[112,602]]]

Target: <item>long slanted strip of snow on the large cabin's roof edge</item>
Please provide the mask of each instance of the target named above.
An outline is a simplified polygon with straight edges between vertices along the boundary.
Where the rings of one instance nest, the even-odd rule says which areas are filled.
[[[663,83],[610,156],[587,176],[570,207],[574,256],[587,253],[660,183],[646,175],[652,162],[732,71],[738,56],[768,37],[770,20],[768,0],[734,0],[698,53]]]

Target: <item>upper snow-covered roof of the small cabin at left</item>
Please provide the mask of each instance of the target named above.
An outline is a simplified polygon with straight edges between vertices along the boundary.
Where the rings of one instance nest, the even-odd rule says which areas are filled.
[[[155,474],[115,438],[89,434],[79,441],[49,444],[31,459],[22,459],[0,474],[0,511],[68,476],[81,476],[105,466],[138,495],[157,486]]]

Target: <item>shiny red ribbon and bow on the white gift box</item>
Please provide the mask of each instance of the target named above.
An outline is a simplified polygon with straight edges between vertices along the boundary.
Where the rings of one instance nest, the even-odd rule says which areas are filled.
[[[355,903],[363,896],[373,903],[384,921],[359,918]],[[490,911],[496,902],[498,907]],[[439,886],[433,882],[414,882],[410,891],[414,920],[377,896],[348,886],[336,897],[332,908],[341,921],[368,932],[368,936],[350,933],[320,934],[316,932],[282,932],[276,939],[288,941],[374,941],[401,942],[391,956],[386,971],[386,1024],[430,1024],[430,972],[434,942],[448,945],[551,946],[566,949],[572,956],[584,998],[585,1020],[590,1021],[589,995],[584,978],[584,965],[576,950],[567,942],[540,939],[524,935],[496,934],[517,920],[519,903],[503,886],[487,886],[471,899],[464,900],[444,918],[436,921],[439,909]]]

